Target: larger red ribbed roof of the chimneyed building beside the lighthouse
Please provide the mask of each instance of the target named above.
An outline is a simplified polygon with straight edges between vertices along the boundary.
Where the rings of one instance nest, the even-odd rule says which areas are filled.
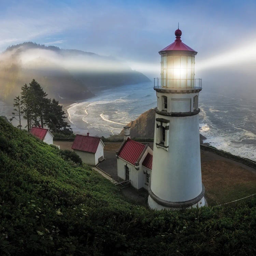
[[[134,165],[137,162],[138,158],[140,157],[141,153],[143,152],[145,146],[146,145],[140,142],[128,138],[124,146],[118,153],[118,156]]]

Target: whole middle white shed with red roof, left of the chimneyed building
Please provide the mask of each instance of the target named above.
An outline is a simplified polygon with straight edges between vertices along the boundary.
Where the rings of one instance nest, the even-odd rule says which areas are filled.
[[[87,165],[96,166],[100,161],[104,160],[105,144],[99,137],[76,134],[72,145],[73,151],[82,158]]]

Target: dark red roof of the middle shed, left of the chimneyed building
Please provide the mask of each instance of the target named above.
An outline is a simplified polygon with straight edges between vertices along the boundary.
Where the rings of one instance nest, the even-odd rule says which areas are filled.
[[[100,143],[99,137],[91,137],[91,136],[76,134],[75,140],[71,148],[74,150],[80,150],[80,151],[85,151],[89,153],[96,153],[99,143]]]

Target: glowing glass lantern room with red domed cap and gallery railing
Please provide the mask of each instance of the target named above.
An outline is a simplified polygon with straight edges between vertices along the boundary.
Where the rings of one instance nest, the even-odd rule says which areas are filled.
[[[168,89],[201,88],[201,79],[195,79],[197,52],[181,41],[182,32],[175,31],[175,41],[162,49],[161,78],[155,78],[154,87]]]

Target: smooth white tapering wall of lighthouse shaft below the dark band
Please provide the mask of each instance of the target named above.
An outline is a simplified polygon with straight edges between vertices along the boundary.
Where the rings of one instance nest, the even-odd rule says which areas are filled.
[[[151,189],[163,200],[187,201],[202,191],[199,115],[165,118],[170,120],[169,148],[154,144]]]

